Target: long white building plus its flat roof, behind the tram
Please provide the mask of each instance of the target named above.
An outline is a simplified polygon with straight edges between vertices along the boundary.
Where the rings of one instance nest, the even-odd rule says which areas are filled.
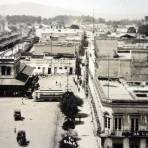
[[[34,45],[31,52],[31,56],[24,56],[25,59],[22,60],[22,63],[35,67],[33,74],[75,74],[75,46],[39,43]]]

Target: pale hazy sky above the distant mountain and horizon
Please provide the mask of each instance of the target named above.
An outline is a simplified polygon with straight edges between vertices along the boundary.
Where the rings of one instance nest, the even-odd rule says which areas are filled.
[[[35,2],[49,6],[78,10],[94,14],[125,17],[144,17],[148,15],[148,0],[11,0],[11,3]],[[0,0],[9,4],[10,0]]]

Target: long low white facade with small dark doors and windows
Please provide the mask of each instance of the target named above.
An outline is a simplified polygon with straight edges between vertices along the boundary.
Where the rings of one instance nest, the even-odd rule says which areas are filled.
[[[22,60],[22,63],[34,67],[34,75],[58,75],[75,74],[76,58],[72,55],[56,56],[32,56]]]

